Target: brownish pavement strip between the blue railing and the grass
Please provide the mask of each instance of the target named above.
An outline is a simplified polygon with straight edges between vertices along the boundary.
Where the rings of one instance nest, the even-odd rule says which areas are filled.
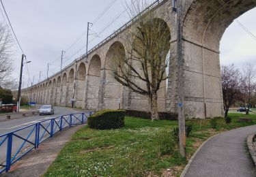
[[[37,150],[29,152],[20,161],[14,163],[8,174],[3,173],[0,176],[42,176],[55,160],[61,148],[63,148],[66,142],[70,141],[72,135],[81,126],[83,125],[61,131],[61,133],[58,133],[53,138],[46,140]]]

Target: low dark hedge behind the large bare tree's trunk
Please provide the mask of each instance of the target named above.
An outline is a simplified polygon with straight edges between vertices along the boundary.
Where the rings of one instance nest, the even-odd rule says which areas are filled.
[[[125,110],[126,116],[151,119],[151,112],[138,110]],[[160,120],[177,120],[177,114],[172,112],[158,112]]]

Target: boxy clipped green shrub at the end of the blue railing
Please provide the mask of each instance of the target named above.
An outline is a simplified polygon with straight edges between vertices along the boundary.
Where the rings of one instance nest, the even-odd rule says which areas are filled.
[[[101,110],[89,116],[91,129],[119,129],[124,127],[124,110]]]

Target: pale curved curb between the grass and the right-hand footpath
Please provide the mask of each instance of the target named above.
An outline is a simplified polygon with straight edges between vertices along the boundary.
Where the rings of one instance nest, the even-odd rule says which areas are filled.
[[[253,127],[253,126],[255,126],[255,125],[250,125],[250,126],[247,126],[247,127]],[[236,128],[236,129],[231,129],[229,131],[243,129],[243,128],[245,128],[245,127],[239,127],[239,128]],[[193,160],[195,159],[195,157],[197,156],[197,154],[201,150],[201,148],[203,148],[203,145],[205,145],[208,141],[212,140],[212,138],[216,137],[217,135],[221,135],[221,134],[227,133],[229,131],[224,131],[222,133],[218,133],[218,134],[213,135],[212,137],[208,138],[208,140],[205,140],[205,142],[203,142],[203,144],[201,144],[201,146],[199,148],[197,148],[197,150],[195,151],[193,156],[189,159],[189,161],[186,164],[186,167],[184,168],[184,170],[182,171],[182,174],[180,175],[180,177],[185,177],[186,176],[186,173],[188,172],[188,169],[190,168],[191,163],[193,163]]]

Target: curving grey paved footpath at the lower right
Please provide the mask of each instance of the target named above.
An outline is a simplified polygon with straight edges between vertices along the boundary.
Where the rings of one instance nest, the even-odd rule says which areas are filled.
[[[256,125],[253,125],[216,135],[199,150],[186,177],[256,176],[246,147],[247,136],[255,132]]]

